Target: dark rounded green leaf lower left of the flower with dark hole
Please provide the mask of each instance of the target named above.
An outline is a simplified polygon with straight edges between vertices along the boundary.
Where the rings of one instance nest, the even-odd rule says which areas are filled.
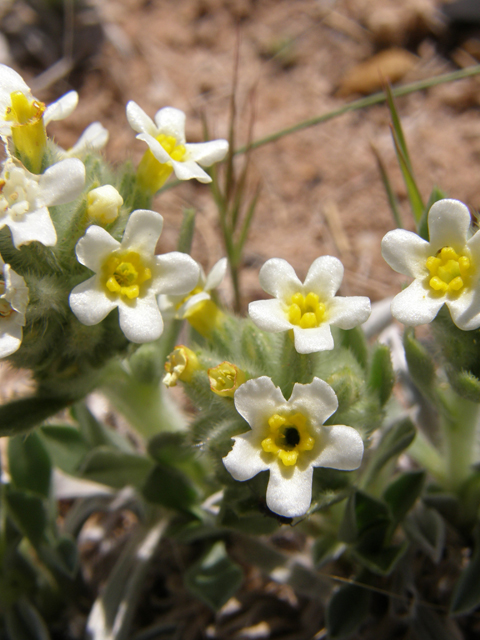
[[[178,469],[157,464],[146,478],[142,489],[146,500],[177,511],[188,510],[197,501],[189,479]]]

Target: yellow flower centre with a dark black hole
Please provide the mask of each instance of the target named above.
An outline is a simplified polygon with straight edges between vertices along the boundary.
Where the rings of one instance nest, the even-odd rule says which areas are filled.
[[[311,451],[315,445],[303,413],[291,416],[274,413],[268,419],[268,426],[269,434],[262,440],[262,449],[266,453],[276,454],[287,467],[296,464],[302,451]]]

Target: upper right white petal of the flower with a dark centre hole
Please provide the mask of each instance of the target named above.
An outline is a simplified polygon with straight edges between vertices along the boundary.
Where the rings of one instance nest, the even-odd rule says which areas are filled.
[[[320,378],[309,384],[294,385],[288,401],[290,407],[308,416],[314,427],[320,427],[338,409],[338,399],[332,387]]]

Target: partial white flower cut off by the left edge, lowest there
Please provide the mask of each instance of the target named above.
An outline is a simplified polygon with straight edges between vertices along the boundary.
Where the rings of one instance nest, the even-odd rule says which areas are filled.
[[[28,287],[2,256],[0,269],[0,358],[5,358],[17,351],[22,342]]]

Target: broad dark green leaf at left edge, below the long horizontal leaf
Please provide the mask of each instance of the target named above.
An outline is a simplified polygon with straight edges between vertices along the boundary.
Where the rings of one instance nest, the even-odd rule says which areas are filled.
[[[9,439],[8,464],[16,489],[25,489],[48,498],[52,468],[50,457],[37,433]]]

